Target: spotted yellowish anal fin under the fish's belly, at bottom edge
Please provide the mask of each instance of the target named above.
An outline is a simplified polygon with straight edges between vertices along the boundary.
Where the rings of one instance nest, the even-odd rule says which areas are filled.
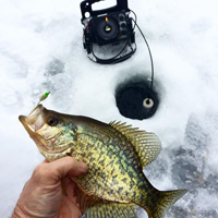
[[[96,203],[85,211],[86,218],[135,218],[138,206],[122,203]]]

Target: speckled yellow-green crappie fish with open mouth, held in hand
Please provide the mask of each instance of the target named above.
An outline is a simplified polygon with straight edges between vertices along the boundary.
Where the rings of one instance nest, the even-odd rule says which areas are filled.
[[[87,218],[134,218],[138,206],[149,218],[162,218],[186,192],[158,191],[144,175],[143,168],[160,153],[154,133],[62,114],[43,105],[19,119],[49,161],[72,156],[87,164],[87,174],[75,179]]]

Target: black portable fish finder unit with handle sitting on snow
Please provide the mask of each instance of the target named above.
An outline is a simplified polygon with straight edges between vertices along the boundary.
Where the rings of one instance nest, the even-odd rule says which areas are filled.
[[[131,58],[136,51],[136,45],[128,0],[117,0],[117,5],[112,8],[93,11],[92,4],[98,1],[101,0],[81,2],[81,21],[84,25],[83,46],[88,58],[101,64],[118,63]],[[94,51],[96,45],[118,47],[120,44],[123,44],[121,49],[109,59],[99,58]]]

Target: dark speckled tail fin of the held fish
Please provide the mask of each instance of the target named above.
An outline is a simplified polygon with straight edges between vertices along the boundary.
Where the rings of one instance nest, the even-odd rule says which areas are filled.
[[[186,190],[174,190],[157,193],[152,199],[146,201],[146,206],[144,207],[148,214],[149,218],[164,218],[166,211],[187,191]]]

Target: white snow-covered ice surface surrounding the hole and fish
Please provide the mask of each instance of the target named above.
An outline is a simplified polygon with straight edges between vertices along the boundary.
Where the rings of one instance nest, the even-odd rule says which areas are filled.
[[[82,47],[78,0],[1,0],[0,217],[10,217],[25,181],[44,159],[17,117],[29,113],[47,90],[47,108],[155,132],[162,152],[145,174],[159,190],[190,191],[167,217],[218,217],[218,2],[129,2],[149,41],[161,99],[156,116],[144,121],[121,117],[114,100],[119,83],[149,76],[138,33],[132,59],[98,65]]]

